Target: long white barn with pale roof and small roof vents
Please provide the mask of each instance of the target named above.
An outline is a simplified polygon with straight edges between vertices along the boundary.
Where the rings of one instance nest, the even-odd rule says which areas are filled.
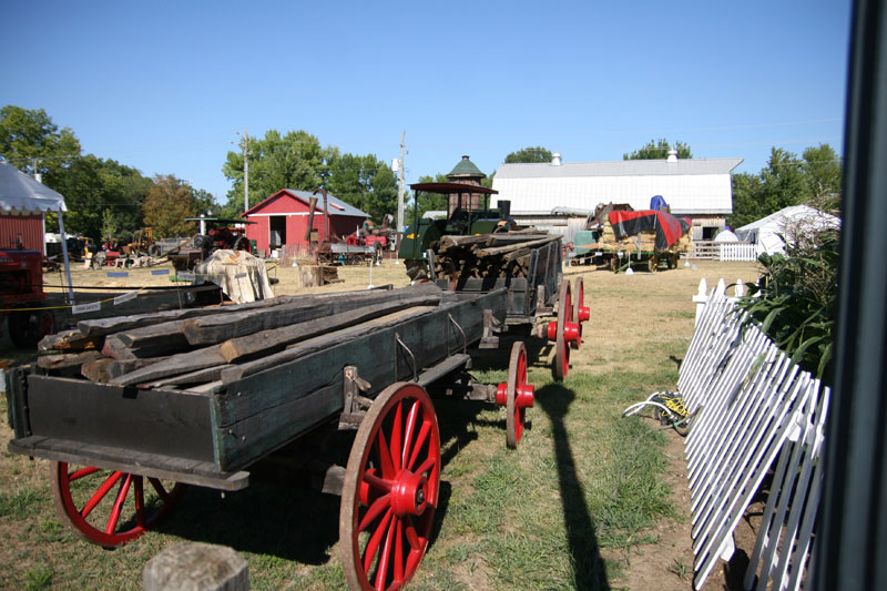
[[[600,203],[650,208],[662,195],[671,213],[693,221],[693,240],[712,240],[733,213],[731,173],[743,159],[679,159],[616,162],[502,164],[492,187],[511,202],[511,215],[523,224],[549,226],[567,242]]]

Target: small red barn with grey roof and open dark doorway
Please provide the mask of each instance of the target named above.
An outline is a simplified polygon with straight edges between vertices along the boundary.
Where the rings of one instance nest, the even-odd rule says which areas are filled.
[[[317,206],[312,221],[312,230],[316,232],[312,240],[317,242],[327,241],[330,236],[344,238],[348,234],[353,234],[369,217],[357,207],[329,195],[327,201],[328,236],[324,220],[323,196],[319,193],[314,195],[309,191],[282,188],[242,214],[247,221],[256,222],[246,226],[246,237],[256,241],[256,248],[267,253],[288,244],[297,247],[308,246],[309,242],[305,238],[305,231],[308,227],[312,197],[317,197]]]

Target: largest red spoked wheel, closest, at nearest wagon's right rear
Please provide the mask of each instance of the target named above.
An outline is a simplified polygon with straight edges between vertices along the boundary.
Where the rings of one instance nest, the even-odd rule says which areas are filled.
[[[399,589],[428,548],[440,491],[440,431],[421,386],[392,384],[364,417],[339,511],[351,589]]]

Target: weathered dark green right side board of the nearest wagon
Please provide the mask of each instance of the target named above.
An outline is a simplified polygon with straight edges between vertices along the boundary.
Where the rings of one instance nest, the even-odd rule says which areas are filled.
[[[412,363],[397,337],[415,356],[417,373],[460,353],[465,343],[471,345],[482,336],[485,308],[504,319],[504,289],[463,296],[460,302],[378,325],[359,336],[353,327],[329,335],[327,344],[337,342],[330,346],[306,342],[302,348],[277,354],[278,363],[271,368],[230,381],[226,391],[214,398],[216,468],[241,469],[314,425],[334,418],[343,409],[343,371],[347,365],[357,366],[358,375],[370,383],[366,393],[370,397],[395,381],[412,379]],[[465,339],[450,317],[466,333]],[[284,354],[293,357],[281,360]]]

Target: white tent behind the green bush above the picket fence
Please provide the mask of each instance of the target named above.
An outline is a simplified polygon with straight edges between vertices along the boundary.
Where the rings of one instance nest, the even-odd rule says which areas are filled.
[[[757,255],[785,254],[786,241],[791,244],[798,234],[828,227],[840,227],[840,218],[809,205],[792,205],[736,228],[736,235],[754,243]]]

